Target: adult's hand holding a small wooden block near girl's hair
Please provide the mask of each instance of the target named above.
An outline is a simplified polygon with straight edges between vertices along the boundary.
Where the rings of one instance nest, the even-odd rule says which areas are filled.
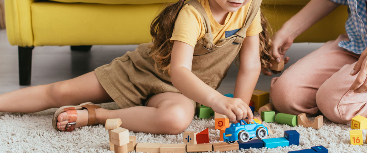
[[[288,63],[289,57],[285,57],[287,50],[291,47],[294,38],[291,37],[289,32],[283,28],[279,29],[275,35],[273,36],[273,47],[271,49],[270,54],[272,57],[280,63],[282,59],[284,59],[284,63]],[[272,65],[270,64],[270,67]],[[266,76],[271,76],[272,73],[268,69],[261,69],[261,72]]]

